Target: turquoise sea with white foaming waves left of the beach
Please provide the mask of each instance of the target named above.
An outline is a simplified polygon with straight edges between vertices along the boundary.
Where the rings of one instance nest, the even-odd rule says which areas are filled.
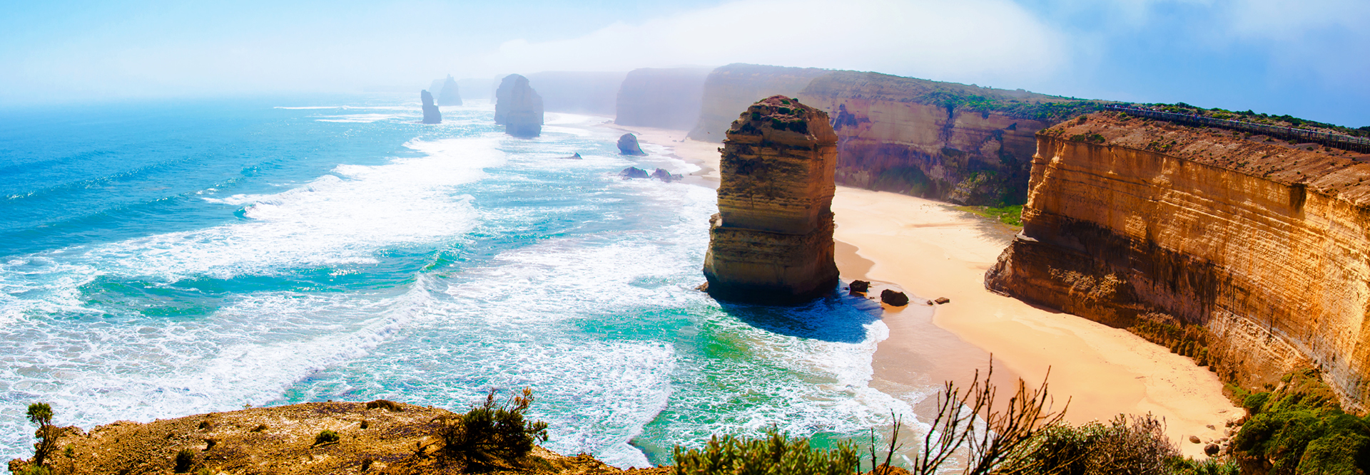
[[[416,99],[0,111],[0,457],[30,454],[40,400],[90,427],[532,386],[548,448],[621,467],[910,413],[867,385],[878,307],[692,290],[714,192],[616,172],[693,166],[619,156],[606,118],[518,140],[489,104],[419,125]]]

